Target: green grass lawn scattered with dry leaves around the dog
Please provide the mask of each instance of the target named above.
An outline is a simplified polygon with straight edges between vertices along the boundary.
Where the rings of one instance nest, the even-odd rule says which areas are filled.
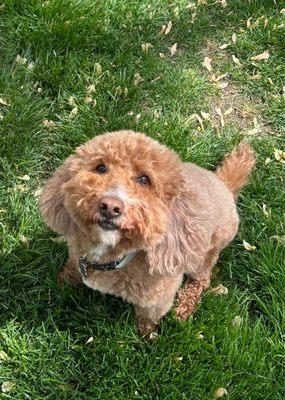
[[[202,400],[224,388],[229,399],[284,399],[284,7],[0,5],[1,398]],[[122,128],[209,169],[242,139],[258,154],[212,282],[228,295],[205,293],[187,323],[170,313],[152,343],[138,337],[130,305],[57,285],[66,246],[37,208],[76,146]]]

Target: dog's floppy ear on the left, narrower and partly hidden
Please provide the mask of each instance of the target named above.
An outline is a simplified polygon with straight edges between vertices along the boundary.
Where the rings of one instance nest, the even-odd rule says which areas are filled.
[[[74,228],[74,222],[65,209],[61,191],[62,185],[72,176],[69,168],[72,159],[72,156],[69,157],[48,179],[39,201],[40,211],[46,224],[61,235],[70,234]]]

